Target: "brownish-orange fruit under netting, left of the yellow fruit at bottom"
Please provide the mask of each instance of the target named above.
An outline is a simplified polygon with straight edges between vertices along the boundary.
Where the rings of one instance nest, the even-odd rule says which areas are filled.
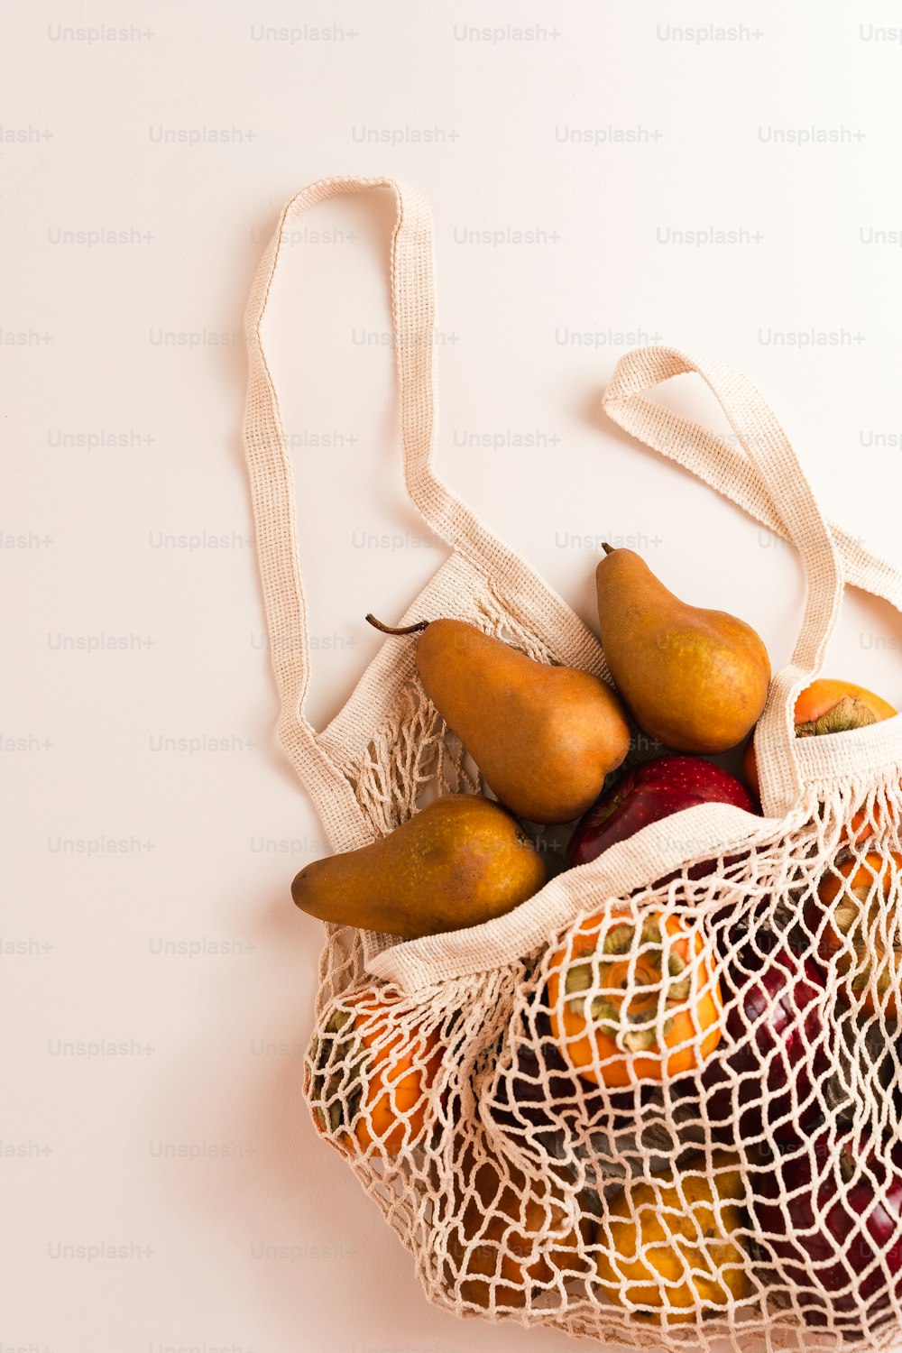
[[[573,1222],[550,1180],[527,1181],[491,1157],[473,1165],[467,1153],[461,1173],[475,1192],[452,1226],[445,1265],[446,1281],[465,1302],[483,1310],[523,1307],[534,1288],[584,1270],[579,1241],[586,1222]]]

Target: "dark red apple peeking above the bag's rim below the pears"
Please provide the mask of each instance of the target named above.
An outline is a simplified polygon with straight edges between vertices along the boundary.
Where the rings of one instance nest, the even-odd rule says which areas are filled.
[[[609,846],[671,813],[698,804],[733,804],[755,812],[748,790],[736,775],[703,756],[656,756],[629,770],[576,824],[567,865],[587,865]],[[714,863],[694,865],[690,878],[703,878]]]

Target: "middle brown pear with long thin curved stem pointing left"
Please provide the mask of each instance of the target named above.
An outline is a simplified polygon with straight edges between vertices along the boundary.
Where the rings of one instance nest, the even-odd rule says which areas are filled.
[[[426,694],[492,793],[530,823],[584,813],[629,750],[626,712],[611,687],[576,667],[538,663],[462,620],[387,633],[414,629],[422,630],[417,670]]]

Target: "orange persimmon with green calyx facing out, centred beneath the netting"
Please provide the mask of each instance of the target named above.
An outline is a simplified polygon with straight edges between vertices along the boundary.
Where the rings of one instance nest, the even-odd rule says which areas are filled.
[[[703,1066],[722,1032],[721,989],[703,948],[702,934],[675,913],[637,920],[615,909],[584,920],[552,957],[548,980],[568,1065],[611,1089]]]

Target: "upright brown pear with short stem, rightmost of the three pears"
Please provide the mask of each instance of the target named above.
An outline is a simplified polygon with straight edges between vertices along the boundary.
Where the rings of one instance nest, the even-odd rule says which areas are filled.
[[[680,752],[723,752],[764,709],[771,662],[763,640],[722,610],[668,591],[632,549],[595,572],[602,647],[640,728]]]

